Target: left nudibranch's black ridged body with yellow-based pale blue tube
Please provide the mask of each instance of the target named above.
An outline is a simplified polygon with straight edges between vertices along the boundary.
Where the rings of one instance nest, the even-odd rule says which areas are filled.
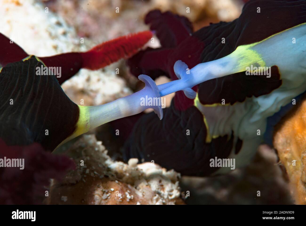
[[[81,106],[66,96],[56,76],[37,73],[41,67],[45,67],[43,62],[31,55],[0,72],[0,137],[7,145],[37,142],[52,151],[90,129],[147,108],[162,119],[161,105],[143,101],[160,99],[155,82],[147,75],[139,76],[145,87],[138,92],[103,105]]]

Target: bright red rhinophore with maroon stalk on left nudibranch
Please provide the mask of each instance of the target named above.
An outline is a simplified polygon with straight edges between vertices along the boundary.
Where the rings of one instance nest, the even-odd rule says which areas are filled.
[[[84,53],[70,52],[39,58],[48,67],[62,68],[62,75],[58,77],[58,82],[62,84],[81,68],[97,70],[118,61],[120,58],[128,58],[134,55],[150,40],[153,34],[154,32],[151,31],[139,32],[107,41]],[[2,66],[20,61],[28,56],[21,47],[16,43],[11,43],[11,40],[1,33],[0,50],[0,65]]]

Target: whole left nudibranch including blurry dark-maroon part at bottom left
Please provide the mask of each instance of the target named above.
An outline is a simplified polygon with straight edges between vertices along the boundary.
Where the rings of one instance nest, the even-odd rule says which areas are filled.
[[[49,179],[61,178],[74,166],[68,156],[53,155],[51,151],[91,128],[150,107],[141,105],[142,96],[159,97],[155,82],[146,75],[139,76],[144,89],[100,106],[73,103],[60,85],[81,68],[96,70],[130,57],[152,35],[144,31],[102,43],[87,52],[36,57],[0,33],[1,204],[41,203]],[[54,68],[60,68],[61,73],[54,74]],[[161,107],[154,108],[162,118]],[[23,169],[3,167],[3,159],[24,159]]]

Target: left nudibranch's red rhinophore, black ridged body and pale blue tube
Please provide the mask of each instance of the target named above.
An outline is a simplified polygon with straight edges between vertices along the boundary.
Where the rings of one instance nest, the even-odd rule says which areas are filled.
[[[53,151],[91,128],[144,111],[147,106],[140,106],[140,96],[159,95],[155,83],[145,75],[139,77],[146,83],[142,91],[100,106],[73,103],[60,84],[81,68],[96,70],[131,56],[151,36],[150,31],[139,32],[102,43],[87,52],[39,58],[28,56],[0,34],[3,66],[0,69],[0,139],[9,146],[39,143],[44,150]],[[41,71],[44,68],[47,70]],[[55,75],[52,68],[59,68],[62,73]],[[155,111],[162,117],[161,109]]]

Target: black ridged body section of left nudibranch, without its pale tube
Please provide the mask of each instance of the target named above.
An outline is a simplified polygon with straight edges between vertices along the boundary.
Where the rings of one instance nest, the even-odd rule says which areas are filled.
[[[52,151],[76,129],[79,109],[54,75],[36,75],[35,56],[0,72],[0,137],[7,145],[40,143]]]

